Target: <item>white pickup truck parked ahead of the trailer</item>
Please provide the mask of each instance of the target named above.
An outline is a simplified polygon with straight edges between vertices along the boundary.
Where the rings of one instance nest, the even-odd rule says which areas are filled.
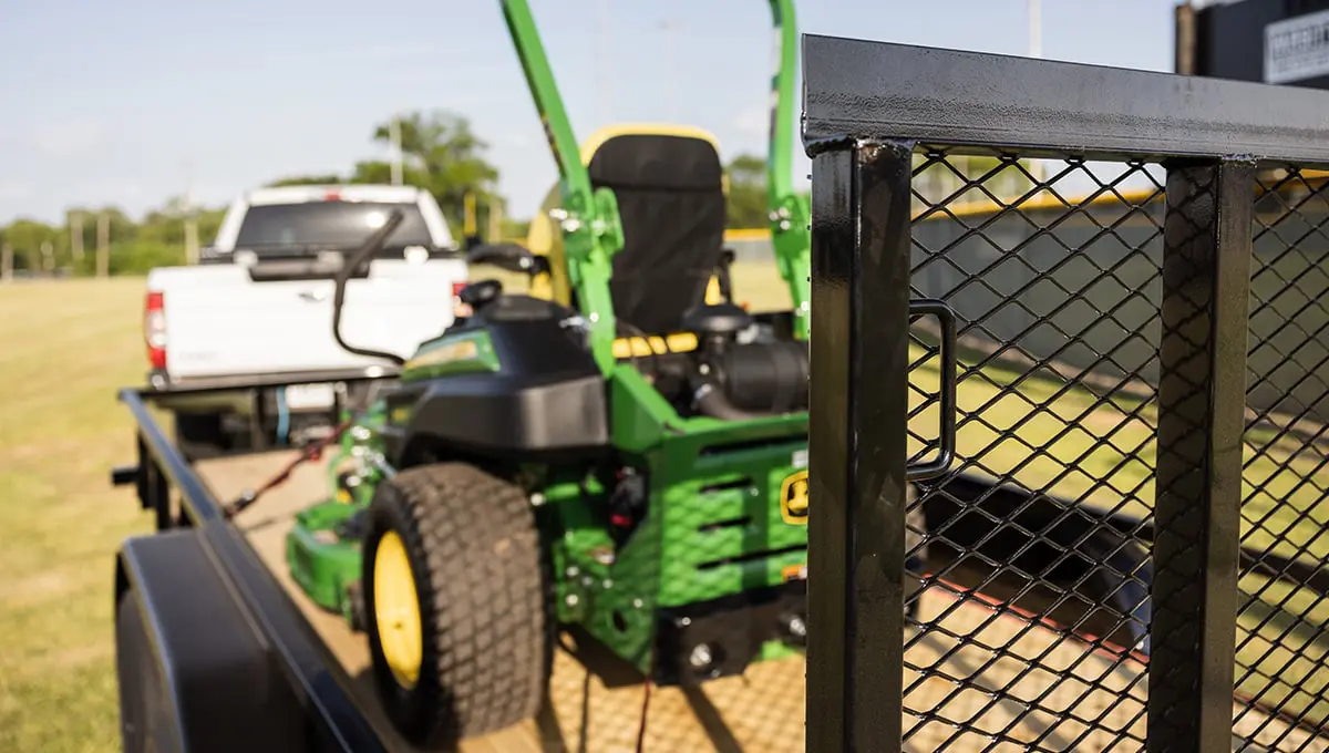
[[[409,356],[453,320],[466,263],[439,205],[411,186],[284,186],[239,197],[201,263],[148,275],[149,388],[175,392],[187,454],[299,444],[327,432],[336,378],[393,373],[332,336],[334,274],[389,212],[401,224],[347,284],[343,339]],[[310,384],[262,386],[262,380]],[[342,386],[342,385],[338,385]]]

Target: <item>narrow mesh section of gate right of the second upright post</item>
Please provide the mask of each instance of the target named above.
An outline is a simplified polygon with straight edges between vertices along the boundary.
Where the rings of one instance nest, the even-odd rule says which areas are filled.
[[[1329,183],[1264,170],[1255,210],[1236,725],[1322,750],[1264,709],[1329,734]]]

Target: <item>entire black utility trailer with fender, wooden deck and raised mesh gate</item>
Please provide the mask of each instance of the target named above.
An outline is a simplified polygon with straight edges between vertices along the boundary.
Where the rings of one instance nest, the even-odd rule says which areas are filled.
[[[537,718],[462,748],[1329,748],[1329,296],[1298,240],[1329,104],[827,37],[805,61],[808,660],[651,689],[563,636]],[[918,297],[940,328],[906,325]],[[403,748],[363,639],[283,575],[316,469],[227,519],[291,454],[190,465],[122,400],[140,458],[116,478],[159,527],[117,568],[126,748]]]

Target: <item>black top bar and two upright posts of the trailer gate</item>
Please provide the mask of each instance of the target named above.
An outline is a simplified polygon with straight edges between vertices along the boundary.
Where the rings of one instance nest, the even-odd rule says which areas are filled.
[[[824,36],[803,61],[808,750],[901,745],[916,146],[1168,169],[1148,749],[1229,749],[1255,167],[1329,163],[1329,97]]]

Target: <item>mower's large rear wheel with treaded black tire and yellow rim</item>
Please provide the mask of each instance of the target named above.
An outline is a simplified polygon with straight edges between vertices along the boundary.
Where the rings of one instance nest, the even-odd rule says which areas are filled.
[[[363,559],[373,680],[403,737],[451,749],[540,711],[554,615],[548,559],[518,486],[456,462],[404,470],[375,490]],[[407,566],[413,594],[400,586]],[[417,611],[393,622],[403,603]]]

